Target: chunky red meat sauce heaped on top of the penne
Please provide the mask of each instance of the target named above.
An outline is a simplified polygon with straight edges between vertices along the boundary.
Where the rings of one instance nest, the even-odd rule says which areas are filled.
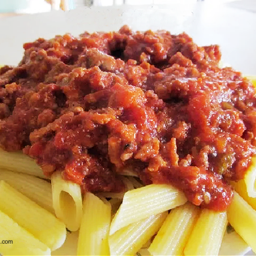
[[[83,190],[121,191],[124,170],[225,210],[255,156],[255,89],[185,33],[87,32],[24,45],[0,69],[0,145]]]

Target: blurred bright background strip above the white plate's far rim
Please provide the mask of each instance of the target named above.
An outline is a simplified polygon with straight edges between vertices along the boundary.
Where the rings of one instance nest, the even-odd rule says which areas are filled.
[[[72,10],[81,6],[117,5],[168,5],[178,0],[0,0],[0,17],[22,13],[50,12],[51,10]],[[191,2],[230,2],[238,8],[256,12],[256,0],[187,0]]]

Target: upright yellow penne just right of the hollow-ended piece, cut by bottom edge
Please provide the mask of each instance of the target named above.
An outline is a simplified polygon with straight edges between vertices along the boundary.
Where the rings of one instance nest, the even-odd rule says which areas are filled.
[[[111,205],[92,193],[83,199],[83,216],[79,230],[77,255],[109,255]]]

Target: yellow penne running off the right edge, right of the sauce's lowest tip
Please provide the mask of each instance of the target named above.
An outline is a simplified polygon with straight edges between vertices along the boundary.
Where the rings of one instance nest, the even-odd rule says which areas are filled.
[[[256,252],[256,211],[236,192],[227,209],[227,217],[234,230]]]

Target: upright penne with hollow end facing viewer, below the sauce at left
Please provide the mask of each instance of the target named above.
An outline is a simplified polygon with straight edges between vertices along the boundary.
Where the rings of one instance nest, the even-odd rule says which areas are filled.
[[[52,177],[53,208],[56,216],[62,220],[70,231],[80,227],[82,218],[81,187],[72,181],[64,180],[60,172]]]

